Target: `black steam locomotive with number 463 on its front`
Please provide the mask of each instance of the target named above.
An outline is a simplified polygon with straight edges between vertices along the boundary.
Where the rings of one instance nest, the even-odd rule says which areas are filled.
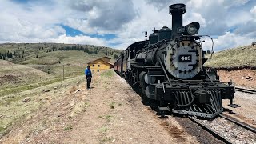
[[[182,26],[184,4],[169,6],[172,30],[163,26],[149,40],[134,42],[118,57],[114,70],[147,98],[158,102],[159,111],[214,118],[222,113],[222,99],[234,98],[232,82],[219,82],[216,70],[206,69],[200,25]]]

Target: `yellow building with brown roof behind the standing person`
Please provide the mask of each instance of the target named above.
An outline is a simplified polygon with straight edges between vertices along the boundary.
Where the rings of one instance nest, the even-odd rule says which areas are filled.
[[[113,64],[110,63],[110,59],[108,57],[102,57],[102,58],[98,58],[94,61],[88,62],[87,66],[90,66],[90,70],[92,72],[99,72],[102,70],[107,70],[107,69],[111,69],[113,68]]]

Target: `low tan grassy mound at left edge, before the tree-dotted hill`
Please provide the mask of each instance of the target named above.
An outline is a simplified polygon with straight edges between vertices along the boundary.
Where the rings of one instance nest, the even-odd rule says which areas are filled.
[[[56,78],[30,66],[0,60],[0,96],[55,82]]]

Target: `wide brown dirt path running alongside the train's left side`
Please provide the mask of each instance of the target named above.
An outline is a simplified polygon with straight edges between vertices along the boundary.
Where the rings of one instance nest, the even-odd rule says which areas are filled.
[[[112,70],[85,86],[67,86],[0,143],[198,143],[174,118],[159,119]]]

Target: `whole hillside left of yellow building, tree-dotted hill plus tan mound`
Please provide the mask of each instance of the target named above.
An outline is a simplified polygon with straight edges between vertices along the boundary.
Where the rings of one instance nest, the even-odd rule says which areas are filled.
[[[86,63],[122,50],[60,43],[0,44],[0,96],[29,90],[84,73]],[[2,60],[5,57],[5,60]]]

